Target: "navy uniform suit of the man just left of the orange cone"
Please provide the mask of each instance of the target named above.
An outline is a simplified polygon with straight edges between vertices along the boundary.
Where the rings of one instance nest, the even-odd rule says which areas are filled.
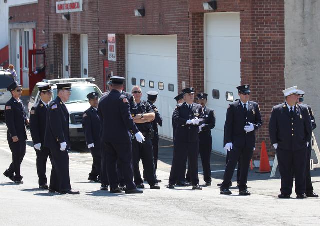
[[[229,152],[229,159],[225,167],[221,190],[229,188],[236,164],[239,160],[241,165],[238,168],[238,171],[240,171],[238,189],[239,191],[247,189],[246,183],[249,163],[252,158],[253,148],[255,147],[255,130],[262,126],[262,119],[257,103],[248,101],[246,106],[247,108],[244,109],[241,101],[238,100],[229,104],[227,109],[224,125],[225,143],[232,142],[233,149]],[[254,130],[246,132],[244,126],[249,125],[249,122],[253,124]]]

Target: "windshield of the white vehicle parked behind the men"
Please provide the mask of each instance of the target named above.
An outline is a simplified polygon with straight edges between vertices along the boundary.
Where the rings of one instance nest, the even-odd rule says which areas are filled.
[[[72,86],[71,87],[71,96],[66,103],[78,103],[78,102],[87,102],[88,98],[86,95],[92,92],[96,92],[101,96],[101,92],[96,86]],[[57,96],[57,89],[53,90],[53,99]]]

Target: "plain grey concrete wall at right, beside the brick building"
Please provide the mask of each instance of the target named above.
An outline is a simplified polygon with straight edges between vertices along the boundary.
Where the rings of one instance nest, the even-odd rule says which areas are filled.
[[[285,87],[306,92],[320,127],[320,1],[285,0]],[[320,142],[320,131],[314,131]]]

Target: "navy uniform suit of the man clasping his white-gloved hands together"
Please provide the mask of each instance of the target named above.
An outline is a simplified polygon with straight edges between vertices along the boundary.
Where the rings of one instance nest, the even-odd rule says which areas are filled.
[[[199,125],[186,124],[187,120],[195,117],[199,118],[199,125],[203,124],[204,112],[200,104],[193,103],[191,109],[189,109],[186,102],[176,105],[173,112],[173,120],[177,126],[174,133],[174,152],[169,184],[175,184],[181,176],[181,169],[185,169],[185,153],[187,153],[189,159],[191,184],[199,184]]]

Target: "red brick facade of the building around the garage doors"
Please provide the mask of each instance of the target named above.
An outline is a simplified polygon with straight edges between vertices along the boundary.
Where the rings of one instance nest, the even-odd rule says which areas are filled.
[[[62,77],[63,34],[68,36],[70,77],[81,75],[80,35],[87,34],[88,76],[95,77],[101,89],[108,54],[100,55],[99,49],[107,49],[102,40],[112,33],[116,35],[116,61],[109,61],[109,72],[114,75],[127,76],[127,35],[176,35],[177,90],[185,82],[197,92],[211,92],[205,88],[205,14],[239,12],[240,80],[251,85],[250,99],[259,103],[264,121],[257,132],[254,158],[259,158],[263,140],[274,157],[268,120],[271,107],[283,101],[284,0],[217,0],[215,11],[203,9],[205,0],[83,0],[82,11],[69,13],[69,20],[56,13],[55,2],[40,0],[37,6],[12,7],[10,13],[23,10],[19,21],[36,21],[37,46],[48,43],[48,78]],[[38,8],[37,18],[27,15],[34,8]],[[138,8],[145,9],[145,16],[134,16]]]

